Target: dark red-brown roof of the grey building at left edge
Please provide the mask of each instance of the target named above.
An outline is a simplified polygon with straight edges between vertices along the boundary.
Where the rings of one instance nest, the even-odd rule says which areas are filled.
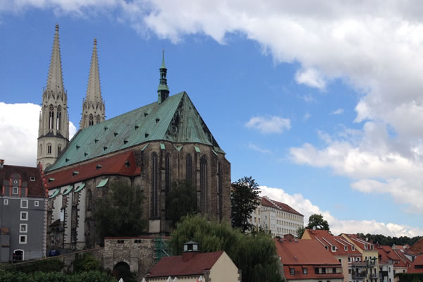
[[[42,176],[39,168],[36,167],[4,165],[3,168],[0,168],[1,187],[4,185],[4,181],[10,181],[11,175],[14,173],[19,174],[22,182],[27,182],[27,197],[46,197],[46,191],[42,183]],[[35,177],[35,181],[31,181],[31,177]]]

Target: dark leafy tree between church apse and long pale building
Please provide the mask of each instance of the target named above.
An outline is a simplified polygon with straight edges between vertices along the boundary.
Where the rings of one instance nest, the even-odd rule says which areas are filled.
[[[243,177],[232,183],[232,226],[245,232],[252,228],[251,213],[260,204],[259,185],[250,177]]]

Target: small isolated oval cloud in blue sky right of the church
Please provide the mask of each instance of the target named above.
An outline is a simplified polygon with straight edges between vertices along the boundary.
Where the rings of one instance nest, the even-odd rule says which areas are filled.
[[[259,130],[263,134],[283,133],[290,129],[290,119],[279,116],[255,116],[245,123],[247,128]]]

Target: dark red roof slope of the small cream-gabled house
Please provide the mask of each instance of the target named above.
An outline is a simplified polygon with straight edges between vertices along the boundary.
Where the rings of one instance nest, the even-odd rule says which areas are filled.
[[[195,276],[202,275],[204,270],[212,269],[223,251],[190,254],[189,260],[183,261],[182,256],[162,257],[149,271],[147,276],[168,277],[168,276]]]

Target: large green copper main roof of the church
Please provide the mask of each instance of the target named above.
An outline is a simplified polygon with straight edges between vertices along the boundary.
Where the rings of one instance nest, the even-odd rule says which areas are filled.
[[[154,102],[109,120],[97,123],[78,133],[63,150],[59,159],[46,171],[101,157],[121,149],[164,140],[175,143],[210,145],[214,151],[225,153],[219,147],[186,92]]]

